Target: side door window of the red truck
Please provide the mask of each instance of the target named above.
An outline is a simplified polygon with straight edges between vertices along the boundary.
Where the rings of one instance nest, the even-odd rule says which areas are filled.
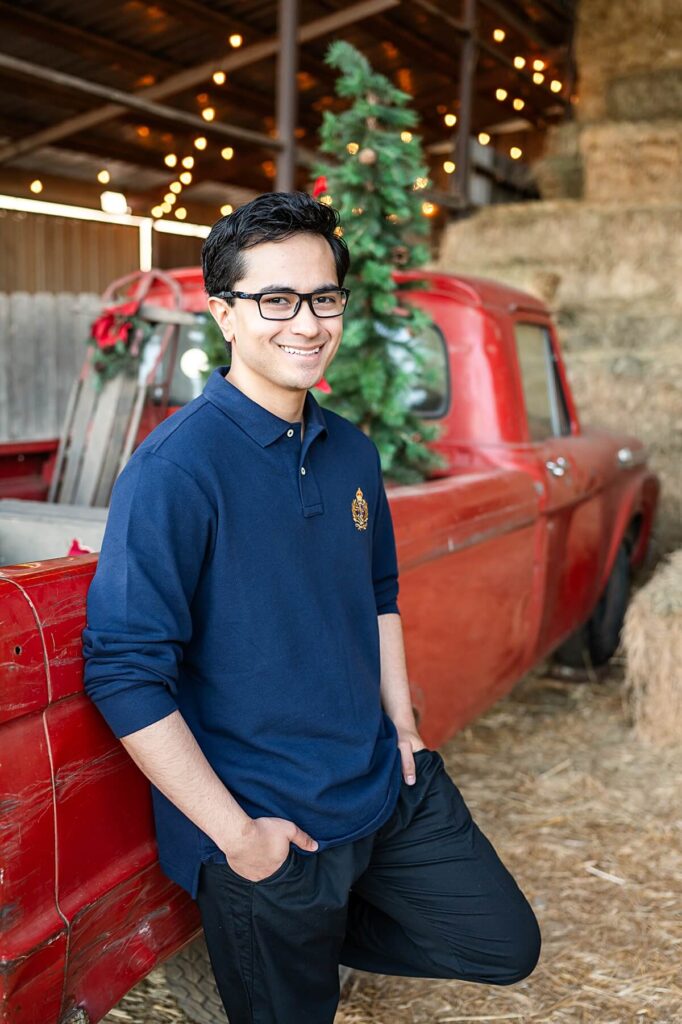
[[[514,334],[530,440],[569,434],[568,409],[549,331],[540,324],[516,324]]]

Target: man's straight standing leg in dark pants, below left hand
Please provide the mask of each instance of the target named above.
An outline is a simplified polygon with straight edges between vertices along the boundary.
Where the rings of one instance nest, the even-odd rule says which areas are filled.
[[[373,836],[312,856],[293,848],[274,874],[249,882],[202,866],[197,901],[230,1024],[332,1024],[348,894]]]

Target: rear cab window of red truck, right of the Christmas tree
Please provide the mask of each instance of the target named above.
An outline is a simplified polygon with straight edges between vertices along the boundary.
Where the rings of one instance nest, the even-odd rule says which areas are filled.
[[[379,325],[377,329],[382,333]],[[413,345],[419,348],[423,357],[421,366],[411,352]],[[396,331],[388,344],[388,354],[394,365],[410,376],[410,411],[425,420],[444,416],[450,402],[450,374],[445,341],[439,329],[430,324],[415,339],[411,339],[407,331]]]

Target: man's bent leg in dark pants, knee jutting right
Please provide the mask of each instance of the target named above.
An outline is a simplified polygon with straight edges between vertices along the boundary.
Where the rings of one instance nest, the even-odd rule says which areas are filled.
[[[340,962],[379,974],[506,985],[536,966],[540,929],[436,751],[416,755],[353,885]]]

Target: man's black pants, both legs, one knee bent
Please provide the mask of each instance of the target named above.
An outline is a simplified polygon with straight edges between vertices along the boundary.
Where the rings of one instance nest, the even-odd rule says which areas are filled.
[[[202,866],[198,903],[230,1024],[329,1024],[339,964],[509,985],[540,954],[535,914],[437,751],[415,755],[381,828],[259,882]]]

